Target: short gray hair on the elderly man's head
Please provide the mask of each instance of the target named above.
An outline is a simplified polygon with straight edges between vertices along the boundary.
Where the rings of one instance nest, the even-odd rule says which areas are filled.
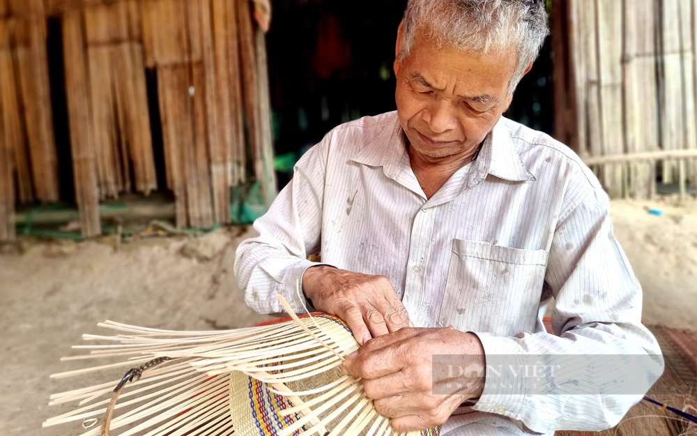
[[[549,33],[544,0],[409,0],[404,11],[399,62],[409,57],[415,35],[438,47],[487,54],[516,47],[509,93],[515,91]]]

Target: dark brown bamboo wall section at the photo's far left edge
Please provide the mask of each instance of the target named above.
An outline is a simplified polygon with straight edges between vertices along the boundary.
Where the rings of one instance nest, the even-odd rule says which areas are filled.
[[[15,200],[58,200],[59,177],[43,3],[3,1],[0,10],[0,239],[13,239]]]

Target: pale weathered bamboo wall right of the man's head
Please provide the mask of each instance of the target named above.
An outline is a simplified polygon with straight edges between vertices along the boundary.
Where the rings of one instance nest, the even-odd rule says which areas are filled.
[[[697,0],[555,0],[555,135],[611,197],[697,187]]]

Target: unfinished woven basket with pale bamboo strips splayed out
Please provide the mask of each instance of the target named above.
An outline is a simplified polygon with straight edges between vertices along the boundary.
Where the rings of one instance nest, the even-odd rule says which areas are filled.
[[[84,335],[109,345],[78,346],[91,354],[63,360],[120,361],[52,377],[137,366],[167,356],[164,365],[128,385],[116,403],[110,428],[123,436],[438,435],[438,428],[397,433],[389,419],[377,414],[360,379],[341,368],[344,356],[358,349],[342,320],[327,314],[291,316],[292,322],[228,331],[166,331],[107,321],[99,325],[122,334]],[[52,405],[79,400],[81,407],[44,426],[95,422],[107,412],[118,382],[52,396]],[[84,433],[99,434],[96,426]]]

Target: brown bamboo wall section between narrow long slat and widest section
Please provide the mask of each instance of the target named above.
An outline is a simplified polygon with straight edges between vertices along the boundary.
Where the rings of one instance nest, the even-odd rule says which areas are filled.
[[[86,7],[84,21],[100,197],[148,195],[157,180],[137,3]]]

